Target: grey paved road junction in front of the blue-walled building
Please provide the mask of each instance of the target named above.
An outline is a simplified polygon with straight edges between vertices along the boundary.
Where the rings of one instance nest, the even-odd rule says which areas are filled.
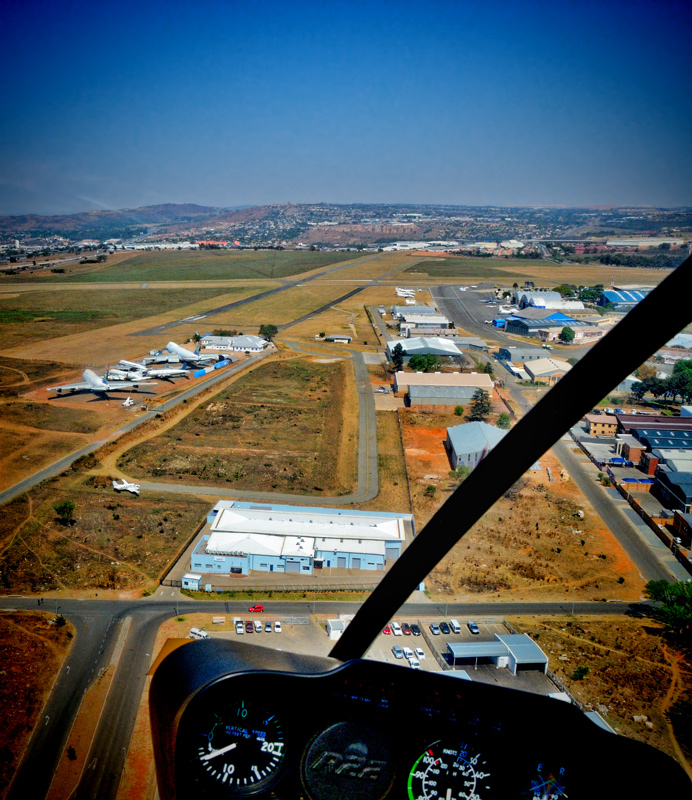
[[[50,602],[50,601],[49,601]],[[354,614],[359,603],[319,603],[321,613]],[[2,598],[2,609],[34,609],[34,598]],[[63,756],[69,731],[85,689],[104,669],[120,631],[129,618],[131,625],[122,649],[111,690],[89,752],[82,780],[75,798],[113,800],[125,763],[142,689],[149,669],[156,631],[165,619],[200,611],[208,613],[247,614],[247,603],[195,602],[182,600],[114,601],[60,600],[60,613],[77,629],[75,642],[65,662],[36,727],[26,757],[10,788],[8,800],[40,800],[45,797],[52,776]],[[311,613],[310,602],[265,602],[273,616],[300,616]],[[50,606],[48,606],[50,608]],[[628,603],[410,603],[399,617],[435,618],[440,616],[503,617],[540,614],[613,615],[646,613],[646,606]]]

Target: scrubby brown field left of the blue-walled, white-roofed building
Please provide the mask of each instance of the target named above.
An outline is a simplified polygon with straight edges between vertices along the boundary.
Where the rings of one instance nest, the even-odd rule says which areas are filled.
[[[25,497],[4,506],[0,526],[0,590],[43,594],[66,590],[141,591],[187,542],[209,509],[209,500],[186,495],[116,494],[104,476],[87,476],[93,457]],[[70,524],[53,509],[75,504]]]

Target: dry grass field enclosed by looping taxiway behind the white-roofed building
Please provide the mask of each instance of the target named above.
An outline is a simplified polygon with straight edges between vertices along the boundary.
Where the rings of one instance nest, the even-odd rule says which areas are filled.
[[[347,494],[355,483],[353,386],[346,361],[262,364],[178,425],[127,451],[118,468],[197,485]]]

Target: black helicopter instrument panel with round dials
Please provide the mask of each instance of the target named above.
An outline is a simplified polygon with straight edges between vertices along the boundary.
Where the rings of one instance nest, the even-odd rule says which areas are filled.
[[[452,676],[191,642],[152,682],[160,795],[594,800],[689,791],[672,759],[567,703]]]

